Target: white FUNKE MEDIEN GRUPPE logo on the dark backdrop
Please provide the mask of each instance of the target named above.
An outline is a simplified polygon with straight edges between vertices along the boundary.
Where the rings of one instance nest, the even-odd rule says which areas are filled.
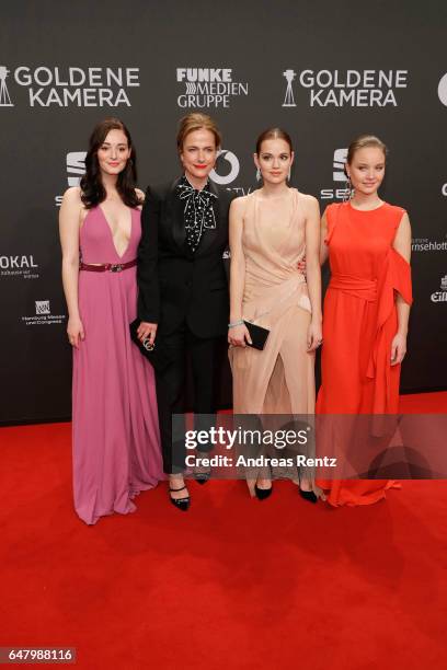
[[[176,68],[176,80],[185,84],[179,107],[229,107],[230,99],[249,94],[249,84],[232,80],[231,68]]]

